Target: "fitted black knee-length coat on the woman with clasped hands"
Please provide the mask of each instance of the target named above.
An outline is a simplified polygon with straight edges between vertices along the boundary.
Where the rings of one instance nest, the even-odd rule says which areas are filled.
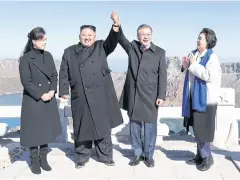
[[[52,55],[31,50],[19,64],[23,85],[20,144],[25,147],[55,142],[61,134],[61,123],[56,98],[44,102],[41,96],[57,91],[57,71]]]

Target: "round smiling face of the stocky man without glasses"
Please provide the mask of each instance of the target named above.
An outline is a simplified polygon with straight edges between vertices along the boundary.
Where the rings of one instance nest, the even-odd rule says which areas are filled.
[[[79,39],[84,46],[90,47],[96,41],[96,33],[90,28],[84,28],[80,32]]]

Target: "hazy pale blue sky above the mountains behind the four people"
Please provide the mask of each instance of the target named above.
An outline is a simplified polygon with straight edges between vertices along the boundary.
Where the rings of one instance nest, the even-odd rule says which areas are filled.
[[[240,2],[0,2],[0,59],[17,58],[28,32],[42,26],[48,35],[47,49],[60,60],[66,47],[78,43],[82,24],[95,25],[97,39],[106,38],[114,9],[129,40],[136,38],[140,24],[149,24],[153,42],[168,56],[183,56],[195,48],[204,27],[216,32],[219,57],[240,56]],[[120,46],[109,62],[114,65],[117,58],[127,63]]]

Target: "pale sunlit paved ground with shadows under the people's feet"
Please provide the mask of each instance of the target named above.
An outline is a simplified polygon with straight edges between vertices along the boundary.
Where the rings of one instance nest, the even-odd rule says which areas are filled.
[[[209,171],[201,172],[197,170],[196,166],[185,164],[185,161],[191,158],[195,152],[195,143],[158,139],[157,144],[154,168],[147,168],[143,163],[136,167],[129,166],[129,160],[132,158],[130,145],[114,142],[114,160],[116,162],[114,167],[97,162],[96,156],[93,154],[90,162],[79,170],[74,167],[71,143],[51,144],[48,156],[53,169],[51,172],[43,172],[41,175],[32,174],[27,164],[29,154],[24,152],[19,160],[0,171],[0,179],[240,179],[240,173],[235,166],[237,163],[240,165],[239,147],[231,148],[231,151],[214,149],[215,164]],[[15,144],[15,146],[17,145]],[[232,161],[231,157],[235,161]]]

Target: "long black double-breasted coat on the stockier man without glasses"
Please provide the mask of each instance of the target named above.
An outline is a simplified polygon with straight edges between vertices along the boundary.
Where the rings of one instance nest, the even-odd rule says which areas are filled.
[[[105,41],[84,52],[81,43],[65,49],[59,73],[59,96],[69,94],[75,140],[97,140],[123,123],[107,56],[119,41],[112,29]]]

